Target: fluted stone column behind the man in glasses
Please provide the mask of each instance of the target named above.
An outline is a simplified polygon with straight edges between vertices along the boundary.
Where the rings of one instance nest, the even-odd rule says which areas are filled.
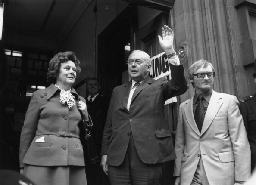
[[[214,89],[239,96],[242,87],[238,83],[244,69],[233,0],[183,0],[183,15],[188,67],[199,59],[212,62],[216,71]],[[189,92],[193,95],[192,86]]]

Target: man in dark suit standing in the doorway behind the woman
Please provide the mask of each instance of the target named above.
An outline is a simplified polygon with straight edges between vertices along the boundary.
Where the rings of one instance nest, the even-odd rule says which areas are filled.
[[[97,145],[97,150],[100,154],[102,134],[106,122],[106,113],[109,106],[109,98],[100,94],[100,84],[97,78],[87,79],[86,105],[88,113],[93,122],[91,135]],[[88,185],[107,185],[108,178],[100,168],[100,163],[86,163],[87,183]]]

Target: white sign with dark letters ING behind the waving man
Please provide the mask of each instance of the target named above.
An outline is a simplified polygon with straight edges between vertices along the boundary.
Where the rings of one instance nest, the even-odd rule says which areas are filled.
[[[150,77],[155,80],[166,77],[167,80],[171,80],[171,70],[165,52],[162,52],[156,56],[151,57],[152,67],[150,69]],[[169,103],[177,102],[176,97],[172,97],[165,101],[165,105]]]

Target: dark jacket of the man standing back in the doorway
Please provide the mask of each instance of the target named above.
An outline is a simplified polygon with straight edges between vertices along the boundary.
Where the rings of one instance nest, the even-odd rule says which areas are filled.
[[[89,100],[86,98],[86,105],[88,113],[90,114],[94,124],[91,134],[96,144],[101,145],[102,134],[106,122],[106,114],[109,107],[109,97],[99,94],[96,96],[93,102],[89,102]]]

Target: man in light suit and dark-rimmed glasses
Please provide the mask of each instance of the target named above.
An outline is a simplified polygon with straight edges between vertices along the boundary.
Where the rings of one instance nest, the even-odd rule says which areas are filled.
[[[212,90],[215,70],[199,60],[188,70],[193,98],[179,108],[175,185],[234,185],[250,176],[250,146],[238,100]]]

